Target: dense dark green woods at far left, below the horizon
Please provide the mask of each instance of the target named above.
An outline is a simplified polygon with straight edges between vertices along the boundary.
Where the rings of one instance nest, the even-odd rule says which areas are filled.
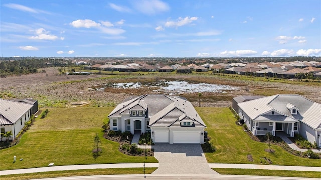
[[[37,73],[40,68],[68,66],[70,61],[64,59],[22,59],[0,61],[0,76]]]

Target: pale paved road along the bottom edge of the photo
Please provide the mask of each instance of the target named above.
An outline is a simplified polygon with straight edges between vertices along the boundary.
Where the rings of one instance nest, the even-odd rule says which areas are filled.
[[[110,180],[110,179],[128,179],[128,180],[138,180],[138,179],[199,179],[199,180],[242,180],[242,179],[250,179],[250,180],[262,180],[262,179],[270,179],[270,180],[317,180],[316,178],[299,178],[299,177],[270,177],[270,176],[249,176],[249,175],[214,175],[214,176],[206,176],[206,175],[152,175],[147,174],[146,178],[143,175],[94,175],[94,176],[79,176],[79,177],[60,177],[60,178],[48,178],[48,179],[38,179],[38,180]]]

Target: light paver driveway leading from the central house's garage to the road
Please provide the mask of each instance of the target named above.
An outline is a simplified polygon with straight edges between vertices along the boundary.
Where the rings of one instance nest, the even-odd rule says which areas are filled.
[[[162,144],[154,146],[159,168],[152,174],[218,174],[210,169],[200,144]]]

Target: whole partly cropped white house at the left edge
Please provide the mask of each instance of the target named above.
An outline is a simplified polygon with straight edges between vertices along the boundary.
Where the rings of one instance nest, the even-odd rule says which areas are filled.
[[[38,103],[35,100],[0,99],[0,132],[11,131],[13,138],[15,138],[35,111],[38,111]],[[2,138],[2,140],[6,139]]]

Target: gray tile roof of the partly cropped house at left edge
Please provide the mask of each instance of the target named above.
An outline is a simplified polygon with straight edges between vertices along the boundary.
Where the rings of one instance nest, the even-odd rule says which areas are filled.
[[[0,99],[0,125],[16,123],[33,105]]]

